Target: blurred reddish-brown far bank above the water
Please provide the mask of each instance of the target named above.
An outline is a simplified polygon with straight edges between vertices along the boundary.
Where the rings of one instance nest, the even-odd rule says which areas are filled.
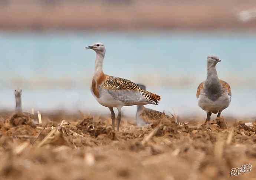
[[[253,1],[4,0],[0,30],[255,31]]]

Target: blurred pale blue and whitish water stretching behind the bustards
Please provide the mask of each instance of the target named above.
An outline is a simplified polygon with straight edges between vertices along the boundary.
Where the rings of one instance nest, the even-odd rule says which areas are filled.
[[[9,33],[0,32],[0,109],[13,109],[16,87],[24,109],[108,112],[93,99],[89,84],[95,53],[106,46],[104,72],[144,83],[162,96],[160,106],[179,114],[201,114],[196,88],[206,79],[206,57],[216,54],[219,77],[232,87],[232,104],[223,114],[255,116],[256,34],[244,33]],[[125,107],[134,113],[135,107]]]

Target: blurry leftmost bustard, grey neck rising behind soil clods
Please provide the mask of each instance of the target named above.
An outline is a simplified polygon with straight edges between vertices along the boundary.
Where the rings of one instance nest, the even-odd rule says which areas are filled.
[[[22,110],[22,89],[15,89],[14,90],[14,94],[15,94],[15,112],[16,113],[23,113],[26,116],[29,116],[30,119],[32,119],[34,124],[40,124],[41,120],[39,120],[39,116],[41,117],[41,113],[38,111],[36,114],[33,113],[29,113],[29,112],[23,112]]]

